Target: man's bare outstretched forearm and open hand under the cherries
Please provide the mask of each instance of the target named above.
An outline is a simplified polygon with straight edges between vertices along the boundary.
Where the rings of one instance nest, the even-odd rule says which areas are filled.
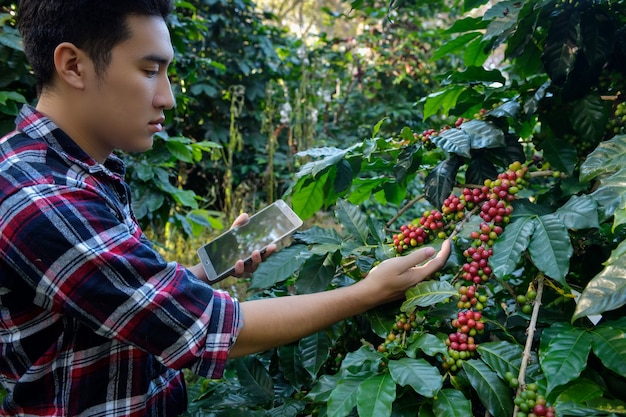
[[[404,297],[406,290],[441,269],[450,254],[446,241],[439,254],[423,248],[388,259],[349,287],[315,294],[270,298],[241,303],[244,326],[230,357],[260,352],[299,340],[343,319]]]

